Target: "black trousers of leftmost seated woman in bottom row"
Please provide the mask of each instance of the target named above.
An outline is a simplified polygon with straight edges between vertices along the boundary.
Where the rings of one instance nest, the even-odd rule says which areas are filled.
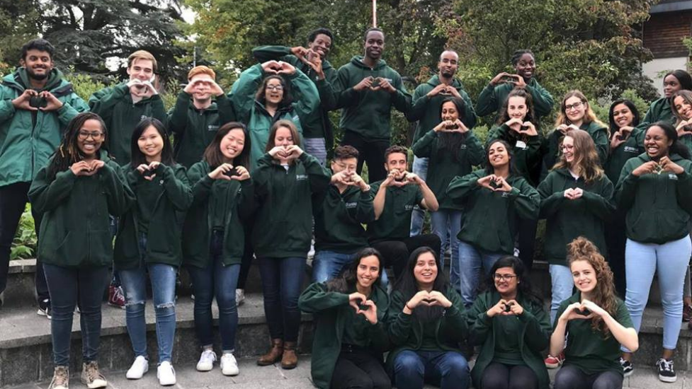
[[[331,389],[390,389],[382,358],[363,349],[341,350],[331,376]]]

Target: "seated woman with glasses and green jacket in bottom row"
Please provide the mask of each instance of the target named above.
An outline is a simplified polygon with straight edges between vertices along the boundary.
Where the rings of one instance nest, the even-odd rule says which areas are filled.
[[[475,388],[548,389],[541,353],[548,347],[550,322],[521,260],[506,255],[492,265],[486,291],[466,318],[469,343],[481,347],[471,370]]]

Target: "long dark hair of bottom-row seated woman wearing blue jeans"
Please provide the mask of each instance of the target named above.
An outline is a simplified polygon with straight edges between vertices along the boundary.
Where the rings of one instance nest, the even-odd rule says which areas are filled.
[[[447,279],[447,275],[442,270],[440,258],[435,250],[429,248],[428,246],[423,246],[416,248],[416,250],[409,255],[409,261],[406,264],[406,269],[404,269],[404,272],[401,274],[401,276],[399,276],[399,279],[397,279],[397,282],[394,285],[394,290],[399,291],[399,293],[404,296],[404,301],[409,301],[414,294],[419,292],[418,282],[416,281],[413,271],[414,267],[416,267],[416,262],[418,262],[418,257],[426,252],[430,252],[433,257],[435,257],[435,263],[437,265],[437,277],[435,277],[435,281],[433,282],[433,291],[438,291],[445,295],[447,294],[447,290],[449,289],[449,281]],[[428,323],[441,318],[443,310],[444,308],[441,306],[420,305],[414,309],[413,314],[416,316],[416,318],[419,318],[421,322]]]

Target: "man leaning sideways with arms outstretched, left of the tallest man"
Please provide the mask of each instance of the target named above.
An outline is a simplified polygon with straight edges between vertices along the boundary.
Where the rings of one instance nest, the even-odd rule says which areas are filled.
[[[324,81],[336,83],[336,69],[327,60],[327,54],[334,44],[334,35],[327,28],[317,28],[307,36],[307,48],[302,46],[259,46],[252,49],[252,56],[258,62],[271,60],[288,62],[312,80],[320,93]],[[324,100],[324,99],[323,99]],[[301,119],[305,152],[314,156],[322,165],[327,162],[334,148],[334,129],[329,120],[329,110],[320,105],[319,110],[310,117]]]

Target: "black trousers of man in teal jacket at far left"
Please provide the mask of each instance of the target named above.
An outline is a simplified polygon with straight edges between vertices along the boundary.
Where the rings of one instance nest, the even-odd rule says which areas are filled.
[[[0,293],[7,286],[7,273],[10,264],[10,250],[12,240],[17,233],[17,226],[21,219],[24,207],[29,201],[27,193],[31,182],[16,182],[0,187]],[[32,209],[36,236],[41,226],[41,215]],[[38,301],[49,298],[48,286],[45,281],[45,273],[40,258],[36,258],[36,294]]]

